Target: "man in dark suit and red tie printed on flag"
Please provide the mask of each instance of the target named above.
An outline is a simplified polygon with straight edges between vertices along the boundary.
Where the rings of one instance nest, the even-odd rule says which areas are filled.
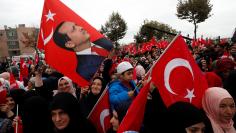
[[[112,49],[112,45],[104,38],[90,42],[90,34],[83,27],[69,21],[63,21],[56,27],[53,40],[57,46],[76,52],[76,72],[87,81],[93,77]]]

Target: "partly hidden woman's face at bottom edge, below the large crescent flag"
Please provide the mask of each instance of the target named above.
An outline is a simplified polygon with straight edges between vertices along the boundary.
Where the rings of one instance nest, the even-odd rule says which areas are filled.
[[[194,124],[190,127],[185,128],[186,133],[204,133],[205,124],[203,122]]]

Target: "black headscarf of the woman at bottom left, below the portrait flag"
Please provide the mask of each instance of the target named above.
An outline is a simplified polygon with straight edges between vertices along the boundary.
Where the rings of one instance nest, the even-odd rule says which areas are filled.
[[[70,122],[63,130],[57,130],[59,133],[87,133],[96,132],[96,129],[81,115],[79,102],[70,93],[61,92],[54,96],[50,105],[50,111],[62,109],[68,114]]]

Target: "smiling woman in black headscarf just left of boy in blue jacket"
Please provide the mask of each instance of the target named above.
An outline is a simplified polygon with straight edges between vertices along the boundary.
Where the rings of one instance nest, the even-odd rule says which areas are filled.
[[[101,96],[105,88],[103,79],[101,77],[93,78],[92,84],[89,88],[89,93],[80,99],[81,113],[84,117],[88,116]]]

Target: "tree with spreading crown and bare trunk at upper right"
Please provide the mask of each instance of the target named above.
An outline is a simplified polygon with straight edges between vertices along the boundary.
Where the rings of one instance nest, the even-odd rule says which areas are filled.
[[[197,24],[209,18],[211,10],[210,0],[179,0],[176,15],[179,19],[186,19],[194,24],[194,38],[196,39]]]

